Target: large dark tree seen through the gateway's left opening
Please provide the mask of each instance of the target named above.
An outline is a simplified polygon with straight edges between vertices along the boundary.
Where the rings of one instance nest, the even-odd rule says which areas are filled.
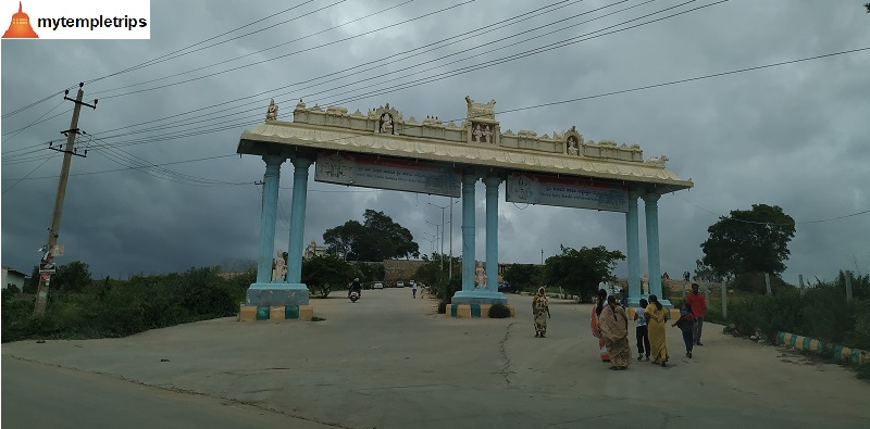
[[[323,234],[330,253],[347,261],[420,256],[420,248],[408,228],[394,222],[384,212],[366,209],[363,217],[362,224],[348,220]]]

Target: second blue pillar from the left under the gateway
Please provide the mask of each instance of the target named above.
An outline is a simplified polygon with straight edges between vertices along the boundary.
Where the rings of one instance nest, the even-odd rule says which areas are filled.
[[[287,250],[287,282],[302,285],[302,237],[306,231],[306,200],[308,197],[308,167],[311,160],[293,160],[293,207],[290,207],[290,248]],[[302,285],[304,286],[304,285]]]

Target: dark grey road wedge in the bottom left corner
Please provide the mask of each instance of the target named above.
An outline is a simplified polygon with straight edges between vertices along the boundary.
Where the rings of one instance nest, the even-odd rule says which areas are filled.
[[[5,428],[310,428],[330,426],[206,395],[2,357]]]

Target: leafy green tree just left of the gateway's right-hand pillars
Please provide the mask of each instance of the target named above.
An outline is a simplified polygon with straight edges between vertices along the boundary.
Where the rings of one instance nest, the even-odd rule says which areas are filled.
[[[581,296],[593,295],[602,277],[613,277],[611,273],[617,261],[625,258],[622,252],[609,251],[604,245],[580,250],[562,245],[561,249],[562,254],[545,262],[544,280]]]

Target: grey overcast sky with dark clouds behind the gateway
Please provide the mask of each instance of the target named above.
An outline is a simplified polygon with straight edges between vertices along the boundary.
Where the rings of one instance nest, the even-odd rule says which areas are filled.
[[[662,272],[694,272],[707,228],[720,215],[759,203],[779,205],[797,222],[786,281],[796,283],[799,274],[830,280],[840,269],[870,270],[870,50],[588,98],[868,48],[866,1],[733,0],[695,11],[689,9],[713,1],[678,7],[682,2],[671,0],[347,0],[330,7],[336,1],[308,2],[194,48],[207,49],[121,74],[303,2],[152,0],[150,40],[3,40],[2,264],[29,273],[38,263],[62,160],[46,142],[69,128],[73,104],[61,93],[10,113],[109,76],[85,85],[85,99],[99,103],[96,111],[83,109],[79,128],[95,138],[78,146],[89,149],[87,157],[72,160],[59,238],[65,254],[58,262],[83,261],[95,278],[257,258],[260,187],[253,184],[265,164],[235,152],[243,130],[263,122],[270,98],[279,104],[281,121],[291,121],[300,98],[309,106],[339,104],[350,112],[389,103],[406,118],[448,121],[464,117],[467,94],[478,102],[495,99],[502,130],[552,135],[576,126],[587,140],[638,143],[645,157],[666,154],[668,169],[695,187],[659,201]],[[561,8],[539,16],[504,28],[497,24],[557,3]],[[456,7],[434,13],[449,5]],[[362,18],[390,7],[396,8]],[[671,7],[678,8],[631,24],[689,12],[498,64]],[[606,13],[613,14],[601,17]],[[407,53],[475,29],[490,31]],[[210,47],[223,40],[228,41]],[[462,53],[443,59],[457,52]],[[384,59],[391,63],[311,80]],[[234,67],[239,68],[225,72]],[[498,114],[582,98],[587,99]],[[129,168],[142,163],[159,167]],[[288,245],[291,172],[288,163],[282,168],[276,250]],[[485,258],[483,188],[478,184],[477,260]],[[544,257],[557,254],[560,244],[625,252],[621,213],[525,206],[507,203],[504,195],[502,184],[502,263],[539,263],[542,251]],[[327,228],[362,220],[364,210],[373,209],[409,228],[428,253],[433,243],[426,235],[436,227],[426,220],[440,224],[443,213],[430,203],[445,206],[450,200],[312,179],[306,241],[322,242]],[[461,204],[455,207],[452,249],[459,254]],[[838,219],[820,222],[832,218]],[[641,237],[645,272],[643,220]],[[448,248],[446,239],[445,252]],[[626,273],[622,263],[616,274]]]

